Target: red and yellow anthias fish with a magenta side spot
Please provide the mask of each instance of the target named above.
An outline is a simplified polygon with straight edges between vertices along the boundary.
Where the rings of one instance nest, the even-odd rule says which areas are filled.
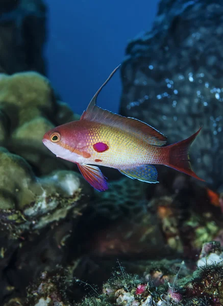
[[[161,164],[203,181],[192,171],[188,156],[201,128],[183,141],[163,146],[167,139],[154,127],[96,106],[98,93],[118,67],[95,93],[80,120],[48,131],[44,145],[57,157],[76,163],[85,180],[98,191],[108,189],[98,165],[116,168],[131,179],[158,183],[153,165]]]

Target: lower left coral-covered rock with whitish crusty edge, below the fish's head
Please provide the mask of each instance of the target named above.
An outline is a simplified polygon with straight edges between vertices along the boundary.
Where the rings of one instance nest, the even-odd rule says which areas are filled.
[[[86,207],[83,194],[89,197],[91,191],[81,175],[71,171],[37,178],[23,158],[5,148],[0,165],[0,270],[2,266],[14,288],[24,290],[36,273],[63,260],[63,246]],[[7,265],[16,249],[14,270]],[[4,283],[1,288],[0,299],[10,287]]]

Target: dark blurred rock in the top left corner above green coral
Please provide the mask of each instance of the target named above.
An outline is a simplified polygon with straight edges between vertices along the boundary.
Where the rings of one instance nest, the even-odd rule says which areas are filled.
[[[45,20],[42,0],[0,1],[0,72],[35,70],[45,74]]]

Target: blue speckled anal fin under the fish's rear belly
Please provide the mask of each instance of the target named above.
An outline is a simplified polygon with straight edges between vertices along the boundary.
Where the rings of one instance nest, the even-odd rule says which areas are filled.
[[[157,182],[157,170],[152,165],[141,165],[135,168],[119,169],[119,171],[133,180],[136,179],[147,183],[159,183]]]

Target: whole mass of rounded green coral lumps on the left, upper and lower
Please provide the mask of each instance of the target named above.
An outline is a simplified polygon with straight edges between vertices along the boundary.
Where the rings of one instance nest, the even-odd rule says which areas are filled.
[[[46,78],[37,72],[1,74],[0,109],[1,300],[63,262],[64,245],[92,190],[69,171],[73,164],[42,145],[49,128],[77,118]]]

